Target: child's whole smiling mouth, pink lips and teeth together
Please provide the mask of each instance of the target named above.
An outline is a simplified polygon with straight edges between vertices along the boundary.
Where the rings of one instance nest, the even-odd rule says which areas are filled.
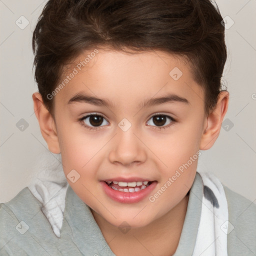
[[[122,203],[135,203],[145,199],[157,184],[156,180],[117,180],[102,180],[100,183],[109,198]]]

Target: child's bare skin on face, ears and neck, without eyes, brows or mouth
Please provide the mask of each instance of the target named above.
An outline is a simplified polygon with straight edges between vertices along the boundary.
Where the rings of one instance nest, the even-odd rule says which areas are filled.
[[[83,54],[74,63],[81,59]],[[183,73],[176,81],[169,75],[173,67]],[[77,92],[107,99],[114,106],[87,102],[68,104]],[[138,106],[146,99],[166,93],[186,98],[189,103],[172,101],[144,108]],[[202,87],[193,80],[189,66],[180,58],[157,50],[125,54],[101,48],[54,96],[52,115],[38,92],[33,93],[32,98],[48,149],[61,153],[65,175],[72,169],[79,173],[76,182],[68,178],[67,181],[91,208],[111,250],[123,256],[173,254],[180,238],[188,202],[186,193],[194,180],[197,159],[154,202],[150,202],[148,196],[136,203],[116,202],[104,193],[99,181],[132,176],[156,180],[157,185],[150,193],[153,195],[189,157],[213,145],[227,110],[228,92],[220,92],[215,108],[206,115]],[[105,118],[95,130],[77,120],[95,112]],[[160,130],[152,118],[157,113],[171,116],[175,121],[170,123],[166,117],[160,125],[170,125]],[[123,118],[131,124],[127,131],[118,127]],[[85,124],[93,127],[89,118]],[[118,228],[123,221],[131,227],[127,233]]]

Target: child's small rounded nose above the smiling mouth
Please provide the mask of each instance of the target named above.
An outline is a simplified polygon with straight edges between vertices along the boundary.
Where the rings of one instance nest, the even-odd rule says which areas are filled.
[[[134,133],[132,126],[123,131],[117,127],[117,134],[114,136],[109,161],[114,164],[130,165],[139,164],[146,160],[146,146],[143,139]]]

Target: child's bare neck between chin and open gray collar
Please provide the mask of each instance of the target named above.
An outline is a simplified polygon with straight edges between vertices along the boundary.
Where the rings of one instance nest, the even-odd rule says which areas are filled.
[[[131,228],[122,233],[117,226],[106,221],[91,209],[110,249],[117,256],[126,255],[172,255],[179,242],[189,194],[165,215],[146,226]]]

